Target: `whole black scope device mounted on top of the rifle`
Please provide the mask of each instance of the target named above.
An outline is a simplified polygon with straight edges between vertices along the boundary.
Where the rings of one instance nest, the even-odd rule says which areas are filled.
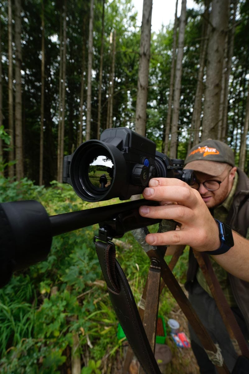
[[[63,182],[88,202],[127,200],[142,193],[153,177],[184,180],[183,160],[177,164],[156,151],[155,142],[128,128],[106,129],[100,140],[88,140],[64,157]]]

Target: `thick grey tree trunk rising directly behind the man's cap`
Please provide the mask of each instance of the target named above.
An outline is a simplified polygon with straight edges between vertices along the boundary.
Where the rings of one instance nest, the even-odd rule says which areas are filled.
[[[228,28],[228,1],[213,0],[210,15],[211,31],[208,42],[205,101],[202,121],[202,140],[217,138],[221,79],[225,37]]]

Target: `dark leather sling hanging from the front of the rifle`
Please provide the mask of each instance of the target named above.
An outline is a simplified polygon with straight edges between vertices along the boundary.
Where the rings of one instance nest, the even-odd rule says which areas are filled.
[[[129,283],[115,258],[114,244],[96,241],[95,246],[113,308],[134,354],[145,373],[161,374],[144,331]]]

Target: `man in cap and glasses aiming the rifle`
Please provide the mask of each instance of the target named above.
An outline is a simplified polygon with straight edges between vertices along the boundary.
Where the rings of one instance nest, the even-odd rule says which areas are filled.
[[[159,201],[160,205],[142,206],[142,216],[174,219],[179,223],[179,230],[149,234],[146,241],[151,245],[168,245],[167,254],[173,253],[175,245],[208,252],[225,297],[248,341],[249,179],[236,168],[233,151],[217,140],[193,147],[184,168],[194,170],[196,181],[191,187],[176,179],[154,178],[144,189],[144,198]],[[233,242],[231,238],[220,237],[224,226],[219,221],[231,227],[232,231],[225,227],[225,236],[231,234]],[[237,355],[192,249],[186,282],[189,299],[232,371]],[[192,328],[190,336],[200,373],[216,373]]]

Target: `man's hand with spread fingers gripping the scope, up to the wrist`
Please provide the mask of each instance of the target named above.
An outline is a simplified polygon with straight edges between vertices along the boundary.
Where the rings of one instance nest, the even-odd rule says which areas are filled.
[[[180,230],[148,234],[151,245],[190,245],[196,251],[220,247],[219,231],[214,218],[197,190],[175,178],[153,178],[143,191],[147,200],[158,206],[141,206],[143,217],[175,220]]]

